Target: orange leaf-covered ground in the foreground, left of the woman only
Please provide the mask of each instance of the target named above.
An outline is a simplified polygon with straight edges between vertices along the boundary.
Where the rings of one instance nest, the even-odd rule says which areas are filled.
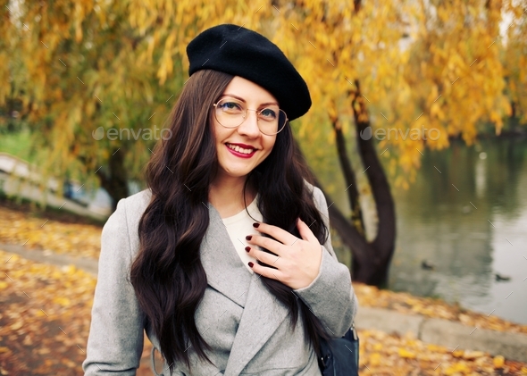
[[[82,375],[96,277],[0,250],[0,375]],[[145,340],[139,376],[152,375]]]

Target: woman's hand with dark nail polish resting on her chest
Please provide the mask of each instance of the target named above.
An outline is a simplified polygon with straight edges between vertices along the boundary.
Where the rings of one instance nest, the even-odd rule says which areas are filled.
[[[302,238],[297,238],[288,231],[267,223],[255,223],[253,226],[259,232],[270,235],[276,240],[260,235],[248,235],[247,242],[251,245],[262,246],[276,255],[271,255],[253,246],[247,246],[246,251],[256,260],[277,268],[249,263],[253,271],[263,277],[280,280],[284,285],[293,289],[305,288],[314,281],[322,261],[322,246],[304,221],[297,220],[297,229]]]

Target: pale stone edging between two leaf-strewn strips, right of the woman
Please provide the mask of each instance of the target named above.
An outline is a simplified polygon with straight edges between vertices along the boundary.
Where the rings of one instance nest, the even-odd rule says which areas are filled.
[[[448,347],[452,352],[457,349],[483,351],[527,363],[527,335],[522,333],[481,329],[460,322],[372,307],[359,307],[356,328],[400,336],[409,332],[425,343]]]

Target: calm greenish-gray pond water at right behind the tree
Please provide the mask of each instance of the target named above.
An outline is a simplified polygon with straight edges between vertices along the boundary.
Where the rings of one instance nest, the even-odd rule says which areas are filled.
[[[428,151],[414,184],[393,193],[390,289],[527,324],[526,139]]]

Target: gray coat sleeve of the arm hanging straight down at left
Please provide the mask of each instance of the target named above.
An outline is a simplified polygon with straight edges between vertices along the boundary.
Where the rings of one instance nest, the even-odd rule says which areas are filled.
[[[130,284],[130,238],[126,199],[105,223],[101,236],[98,276],[85,375],[135,375],[144,338],[144,314]]]

